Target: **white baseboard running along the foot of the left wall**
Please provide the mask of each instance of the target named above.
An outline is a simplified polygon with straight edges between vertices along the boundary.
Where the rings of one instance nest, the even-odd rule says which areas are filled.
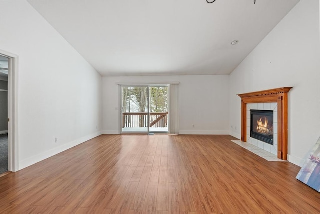
[[[63,144],[63,145],[58,146],[56,148],[50,149],[50,150],[45,151],[45,152],[43,152],[41,154],[37,154],[37,155],[34,155],[34,156],[29,157],[27,159],[21,160],[21,161],[19,161],[19,168],[17,169],[17,171],[21,170],[23,168],[26,168],[26,167],[28,167],[30,165],[33,165],[34,163],[40,162],[40,161],[42,161],[42,160],[44,160],[46,158],[52,157],[53,155],[56,155],[56,154],[58,154],[58,153],[60,153],[62,151],[65,151],[65,150],[67,150],[69,148],[72,148],[72,147],[74,147],[76,145],[84,143],[85,141],[88,141],[88,140],[90,140],[90,139],[92,139],[94,137],[97,137],[99,135],[101,135],[100,131],[96,132],[96,133],[93,133],[93,134],[89,134],[89,135],[84,136],[84,137],[81,137],[79,139],[76,139],[76,140],[71,141],[69,143]]]

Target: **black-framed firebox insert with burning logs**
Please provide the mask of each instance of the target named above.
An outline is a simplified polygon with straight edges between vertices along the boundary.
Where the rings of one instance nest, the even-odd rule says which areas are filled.
[[[273,111],[251,109],[250,136],[273,145]]]

